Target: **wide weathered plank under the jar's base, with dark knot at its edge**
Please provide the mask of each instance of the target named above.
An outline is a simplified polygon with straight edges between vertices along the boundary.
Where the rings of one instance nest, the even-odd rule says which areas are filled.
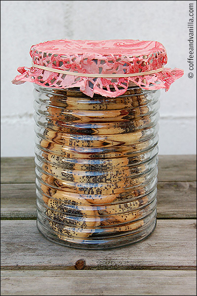
[[[81,250],[45,239],[34,220],[1,221],[1,265],[47,267],[74,266],[83,259],[97,269],[132,269],[151,266],[193,268],[196,266],[196,220],[158,220],[146,240],[112,250]]]

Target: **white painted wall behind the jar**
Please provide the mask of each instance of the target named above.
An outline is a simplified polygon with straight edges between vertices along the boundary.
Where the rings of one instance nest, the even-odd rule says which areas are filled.
[[[34,155],[33,84],[16,86],[11,80],[19,66],[31,66],[33,44],[61,38],[163,43],[167,66],[184,69],[185,75],[167,93],[161,91],[159,153],[196,154],[197,72],[188,77],[189,3],[196,7],[194,0],[2,0],[1,156]]]

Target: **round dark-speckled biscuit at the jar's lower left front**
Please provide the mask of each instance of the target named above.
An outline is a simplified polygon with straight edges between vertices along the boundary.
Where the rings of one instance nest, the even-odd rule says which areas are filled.
[[[68,237],[87,237],[100,223],[98,212],[90,203],[60,190],[49,199],[46,215],[52,228]]]

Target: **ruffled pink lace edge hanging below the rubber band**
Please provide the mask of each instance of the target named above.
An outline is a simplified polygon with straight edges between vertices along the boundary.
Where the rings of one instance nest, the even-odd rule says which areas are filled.
[[[120,77],[114,79],[80,77],[66,74],[62,76],[55,72],[49,72],[34,67],[19,67],[17,70],[20,75],[17,75],[12,80],[13,84],[33,82],[43,87],[56,89],[79,87],[80,91],[87,96],[93,97],[94,94],[99,94],[110,98],[123,95],[127,91],[130,82],[133,82],[142,89],[165,89],[165,91],[168,91],[170,85],[178,78],[181,78],[184,74],[184,71],[181,69],[164,68],[162,72],[155,74]]]

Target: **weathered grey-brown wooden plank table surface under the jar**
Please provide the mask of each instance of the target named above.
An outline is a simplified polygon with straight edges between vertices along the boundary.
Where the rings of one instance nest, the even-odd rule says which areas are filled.
[[[93,251],[38,232],[34,159],[1,158],[1,295],[197,295],[196,156],[161,155],[158,167],[153,234]]]

